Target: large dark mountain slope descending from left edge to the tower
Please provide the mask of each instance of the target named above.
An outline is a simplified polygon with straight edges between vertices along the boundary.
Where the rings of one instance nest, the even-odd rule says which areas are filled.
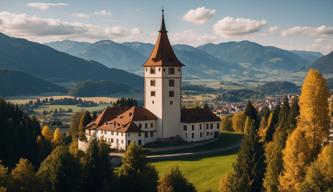
[[[0,69],[23,71],[52,82],[111,80],[143,87],[140,76],[110,69],[96,61],[87,61],[49,46],[0,33]]]

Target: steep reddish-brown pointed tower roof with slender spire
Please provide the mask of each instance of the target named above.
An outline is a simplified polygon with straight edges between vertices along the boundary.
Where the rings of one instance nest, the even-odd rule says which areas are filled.
[[[150,56],[146,63],[145,67],[181,67],[184,66],[179,59],[176,57],[173,52],[172,46],[170,44],[167,30],[164,22],[164,10],[162,10],[162,21],[161,28],[159,30],[158,38],[155,43],[153,51],[150,53]]]

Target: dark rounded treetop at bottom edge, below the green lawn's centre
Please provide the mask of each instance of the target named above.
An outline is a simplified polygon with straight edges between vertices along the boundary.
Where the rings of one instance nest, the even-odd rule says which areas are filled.
[[[195,192],[195,187],[180,172],[179,168],[172,168],[159,182],[158,192]]]

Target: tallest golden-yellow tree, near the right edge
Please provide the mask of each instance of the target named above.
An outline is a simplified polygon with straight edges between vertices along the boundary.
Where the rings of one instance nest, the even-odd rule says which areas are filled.
[[[305,77],[302,92],[299,97],[300,122],[305,133],[307,143],[310,143],[310,155],[314,159],[320,152],[323,141],[328,136],[329,89],[322,75],[314,69],[310,69]]]

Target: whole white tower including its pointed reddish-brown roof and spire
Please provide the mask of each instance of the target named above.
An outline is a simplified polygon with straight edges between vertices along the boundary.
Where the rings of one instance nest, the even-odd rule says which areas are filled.
[[[179,135],[182,66],[169,42],[164,10],[158,39],[144,64],[145,108],[158,117],[158,137]]]

